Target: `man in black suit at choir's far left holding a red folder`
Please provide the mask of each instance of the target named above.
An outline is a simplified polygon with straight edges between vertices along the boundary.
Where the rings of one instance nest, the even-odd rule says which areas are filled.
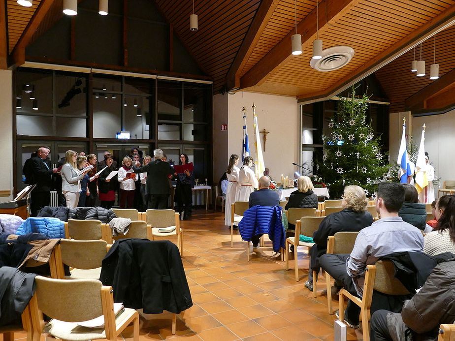
[[[49,148],[40,147],[37,156],[32,157],[33,184],[36,184],[30,195],[32,217],[36,217],[39,210],[50,204],[52,175],[59,171],[58,168],[51,168],[47,159],[50,152]]]

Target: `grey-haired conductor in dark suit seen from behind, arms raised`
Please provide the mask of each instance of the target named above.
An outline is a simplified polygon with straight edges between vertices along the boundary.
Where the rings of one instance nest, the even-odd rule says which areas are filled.
[[[163,210],[167,207],[169,197],[168,176],[174,173],[174,169],[169,163],[162,161],[162,150],[153,151],[154,161],[150,161],[145,166],[140,167],[136,161],[133,170],[135,173],[147,172],[147,182],[145,185],[145,195],[149,196],[148,209]]]

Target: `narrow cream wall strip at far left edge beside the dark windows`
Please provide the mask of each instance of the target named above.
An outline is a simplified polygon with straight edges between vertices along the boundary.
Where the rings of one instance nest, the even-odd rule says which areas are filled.
[[[15,153],[13,151],[13,115],[12,115],[12,74],[9,70],[0,70],[0,136],[1,136],[1,154],[9,155],[4,157],[0,163],[0,190],[13,191],[13,160]],[[19,171],[19,170],[18,170]],[[0,202],[13,199],[13,195],[0,197]]]

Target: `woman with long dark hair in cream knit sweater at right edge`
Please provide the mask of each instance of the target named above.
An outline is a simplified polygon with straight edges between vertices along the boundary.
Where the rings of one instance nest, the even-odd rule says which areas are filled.
[[[435,231],[423,237],[423,252],[435,256],[444,252],[455,253],[455,195],[444,195],[436,203]]]

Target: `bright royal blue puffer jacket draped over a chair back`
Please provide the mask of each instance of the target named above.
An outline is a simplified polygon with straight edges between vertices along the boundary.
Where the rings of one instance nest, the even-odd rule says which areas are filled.
[[[285,231],[281,221],[284,210],[281,206],[253,206],[245,211],[238,224],[242,239],[251,239],[261,233],[268,234],[273,251],[279,252],[285,247]]]

